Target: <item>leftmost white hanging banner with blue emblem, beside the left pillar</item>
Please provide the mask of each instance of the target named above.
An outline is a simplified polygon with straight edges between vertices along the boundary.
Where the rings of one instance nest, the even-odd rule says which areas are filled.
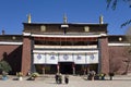
[[[35,53],[34,54],[34,64],[44,64],[45,63],[45,54],[44,53]]]

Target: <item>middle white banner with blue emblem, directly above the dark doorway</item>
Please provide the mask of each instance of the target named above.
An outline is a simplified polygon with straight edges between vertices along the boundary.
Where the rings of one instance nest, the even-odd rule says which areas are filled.
[[[73,62],[72,53],[61,53],[61,54],[59,54],[59,62]]]

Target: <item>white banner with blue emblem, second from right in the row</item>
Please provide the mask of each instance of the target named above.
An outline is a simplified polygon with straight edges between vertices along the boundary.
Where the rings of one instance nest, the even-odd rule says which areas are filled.
[[[85,64],[85,53],[82,54],[74,53],[73,59],[75,64]]]

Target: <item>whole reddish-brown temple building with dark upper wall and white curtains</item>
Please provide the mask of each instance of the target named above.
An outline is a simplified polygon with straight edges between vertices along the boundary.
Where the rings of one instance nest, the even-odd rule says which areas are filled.
[[[108,24],[23,23],[23,35],[0,36],[0,59],[22,71],[41,74],[86,74],[126,69],[124,36],[109,36]],[[119,51],[118,51],[119,50]],[[120,65],[118,65],[118,63]],[[118,71],[114,71],[114,70]]]

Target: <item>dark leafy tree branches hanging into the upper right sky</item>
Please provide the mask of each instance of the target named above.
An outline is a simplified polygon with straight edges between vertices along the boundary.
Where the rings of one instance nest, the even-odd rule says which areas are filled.
[[[121,1],[128,3],[129,8],[131,8],[131,0],[106,0],[106,1],[107,1],[107,9],[111,8],[112,10],[116,10],[118,3],[120,3]],[[131,18],[122,23],[121,27],[127,26],[130,23],[131,23]]]

